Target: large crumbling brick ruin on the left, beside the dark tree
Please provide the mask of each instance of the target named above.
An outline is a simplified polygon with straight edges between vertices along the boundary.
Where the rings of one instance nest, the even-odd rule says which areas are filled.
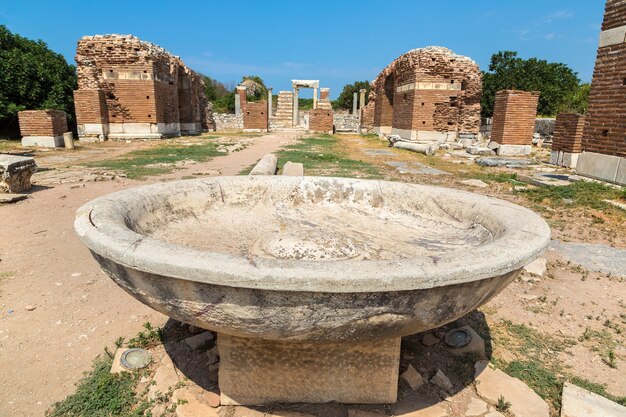
[[[86,36],[76,63],[79,135],[88,136],[90,124],[103,125],[105,136],[123,133],[117,124],[149,124],[144,133],[163,135],[206,129],[202,77],[164,49],[130,35]]]

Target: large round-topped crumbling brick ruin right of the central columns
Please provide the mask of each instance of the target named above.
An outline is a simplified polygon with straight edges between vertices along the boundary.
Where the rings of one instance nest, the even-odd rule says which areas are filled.
[[[474,61],[427,47],[400,56],[376,77],[369,96],[373,110],[366,109],[374,127],[477,134],[481,94]]]

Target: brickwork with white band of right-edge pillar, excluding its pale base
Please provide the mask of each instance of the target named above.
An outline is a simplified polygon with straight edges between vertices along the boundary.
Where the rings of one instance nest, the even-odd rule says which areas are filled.
[[[606,2],[582,146],[626,158],[626,0]]]

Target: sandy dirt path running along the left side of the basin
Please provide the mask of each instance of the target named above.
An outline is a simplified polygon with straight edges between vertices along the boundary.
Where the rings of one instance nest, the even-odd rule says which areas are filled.
[[[241,151],[145,181],[40,187],[25,201],[0,206],[0,416],[43,416],[51,403],[73,392],[105,346],[136,335],[146,321],[166,320],[100,270],[74,235],[78,207],[103,194],[192,172],[236,175],[296,135],[257,137]]]

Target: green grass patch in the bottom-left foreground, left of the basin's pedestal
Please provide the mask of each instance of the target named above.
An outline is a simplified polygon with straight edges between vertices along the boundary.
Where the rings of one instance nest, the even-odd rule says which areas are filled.
[[[110,373],[112,358],[98,356],[90,372],[76,385],[76,392],[54,403],[47,417],[138,417],[149,407],[139,401],[135,388],[139,373]]]

